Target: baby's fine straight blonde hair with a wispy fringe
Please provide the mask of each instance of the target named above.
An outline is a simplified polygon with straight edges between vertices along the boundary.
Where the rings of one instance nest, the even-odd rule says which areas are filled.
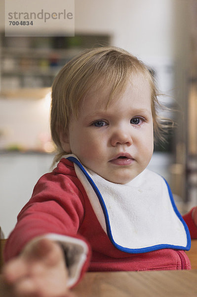
[[[79,104],[92,87],[109,88],[109,101],[116,93],[124,92],[131,75],[142,74],[151,87],[154,134],[164,140],[162,132],[171,125],[169,119],[158,115],[158,91],[153,76],[146,65],[123,49],[101,47],[85,49],[70,60],[58,73],[52,85],[51,136],[57,148],[54,162],[65,152],[60,142],[60,132],[68,129],[71,115],[78,116]]]

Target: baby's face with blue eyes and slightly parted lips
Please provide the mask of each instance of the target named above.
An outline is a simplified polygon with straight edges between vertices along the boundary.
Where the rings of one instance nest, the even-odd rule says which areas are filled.
[[[123,95],[108,102],[105,90],[88,95],[71,118],[67,141],[80,162],[118,184],[134,179],[148,165],[154,147],[151,90],[134,77]]]

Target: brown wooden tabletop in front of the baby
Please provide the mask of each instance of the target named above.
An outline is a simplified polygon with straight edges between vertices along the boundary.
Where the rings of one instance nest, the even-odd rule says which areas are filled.
[[[76,297],[197,297],[197,270],[87,272]]]

